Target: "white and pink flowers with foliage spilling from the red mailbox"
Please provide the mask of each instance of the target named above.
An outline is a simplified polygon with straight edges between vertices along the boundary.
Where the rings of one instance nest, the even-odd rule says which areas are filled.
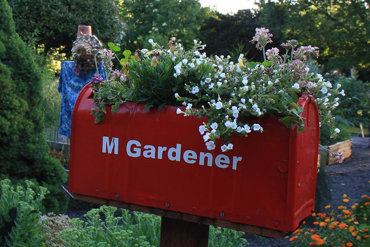
[[[207,121],[199,126],[206,148],[215,149],[216,140],[221,139],[219,148],[228,151],[234,147],[233,135],[263,132],[258,120],[246,123],[245,119],[251,117],[278,115],[288,128],[297,126],[298,131],[304,131],[300,116],[303,109],[296,103],[300,96],[312,95],[319,108],[320,124],[327,125],[334,137],[339,129],[332,124],[331,111],[339,105],[339,95],[344,96],[344,91],[339,91],[339,84],[332,85],[322,75],[310,72],[307,63],[319,55],[317,47],[297,48],[297,40],[287,40],[282,44],[285,53],[280,54],[276,47],[265,51],[265,46],[272,43],[271,37],[262,27],[256,29],[251,40],[263,51],[262,63],[248,62],[243,54],[237,62],[230,56],[211,59],[202,52],[206,45],[198,40],[185,50],[175,37],[166,47],[149,39],[152,50],[136,50],[135,57],[124,65],[127,75],[112,71],[114,54],[103,50],[100,53],[108,67],[108,79],[94,88],[95,122],[104,119],[102,105],[106,103],[114,104],[112,111],[127,101],[147,103],[145,109],[183,105],[185,110],[177,109],[178,114],[206,116]]]

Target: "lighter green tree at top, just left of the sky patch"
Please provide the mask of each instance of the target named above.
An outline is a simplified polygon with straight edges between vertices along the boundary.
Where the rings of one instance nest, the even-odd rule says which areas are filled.
[[[171,37],[188,47],[199,39],[199,29],[209,16],[197,0],[124,0],[120,16],[129,27],[124,48],[151,48],[148,39],[166,45]]]

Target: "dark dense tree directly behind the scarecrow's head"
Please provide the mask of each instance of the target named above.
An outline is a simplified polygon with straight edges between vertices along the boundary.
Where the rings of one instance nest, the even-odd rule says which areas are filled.
[[[125,25],[118,18],[114,0],[8,0],[13,10],[16,32],[24,40],[34,37],[46,55],[62,46],[71,56],[78,25],[91,25],[102,43],[121,42]]]

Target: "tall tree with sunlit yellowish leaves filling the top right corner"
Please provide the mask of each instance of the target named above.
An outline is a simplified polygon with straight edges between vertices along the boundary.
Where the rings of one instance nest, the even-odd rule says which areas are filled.
[[[354,66],[367,79],[370,62],[370,11],[364,0],[260,0],[259,26],[274,34],[274,46],[287,39],[320,48],[327,71],[347,75]],[[277,43],[277,44],[276,44]],[[365,76],[367,75],[367,76]]]

